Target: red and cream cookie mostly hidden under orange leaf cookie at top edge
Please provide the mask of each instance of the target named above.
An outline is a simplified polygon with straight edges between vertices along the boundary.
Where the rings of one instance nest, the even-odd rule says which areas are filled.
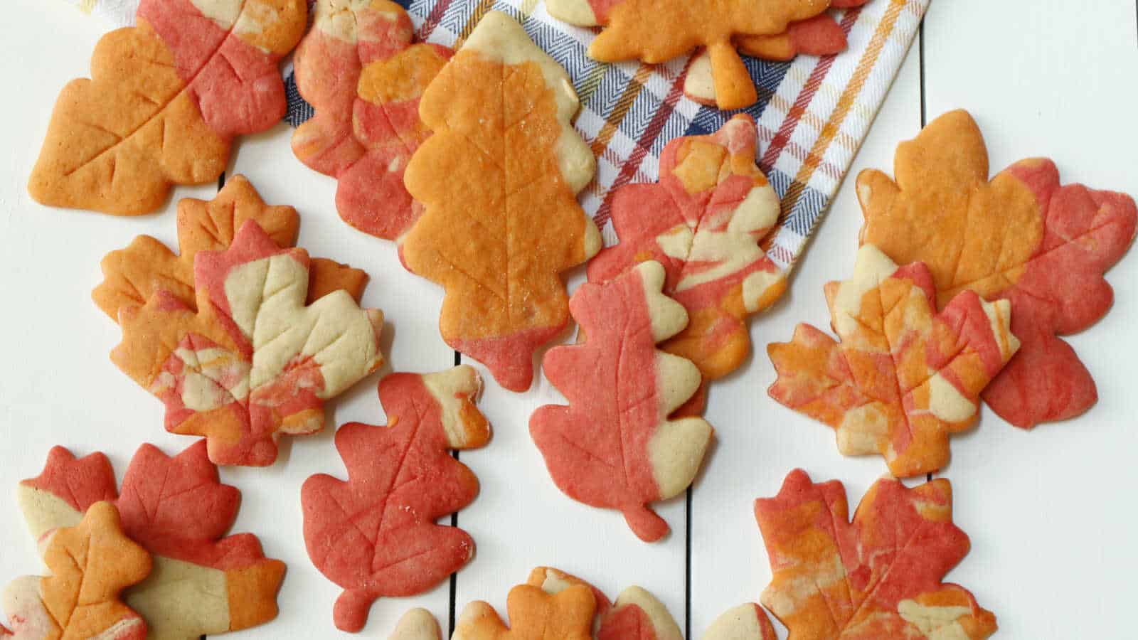
[[[831,0],[835,9],[860,7],[868,0]],[[733,40],[739,52],[752,58],[786,61],[799,54],[832,56],[849,46],[846,31],[828,13],[791,23],[786,31],[773,35],[740,35]],[[700,51],[687,67],[684,77],[684,95],[701,105],[716,106],[715,75],[711,55]]]

